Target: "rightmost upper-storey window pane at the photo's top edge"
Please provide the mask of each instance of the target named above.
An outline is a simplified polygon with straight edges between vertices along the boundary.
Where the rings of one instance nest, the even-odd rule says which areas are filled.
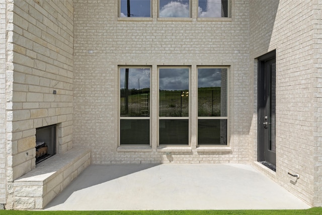
[[[198,0],[198,17],[228,17],[228,0]]]

